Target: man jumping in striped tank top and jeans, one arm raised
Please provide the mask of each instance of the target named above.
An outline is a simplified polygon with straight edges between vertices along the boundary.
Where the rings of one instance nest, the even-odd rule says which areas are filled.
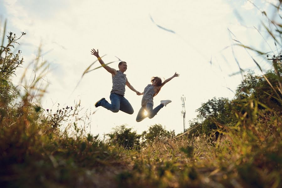
[[[115,70],[108,65],[105,65],[104,61],[99,56],[99,51],[92,49],[91,54],[98,58],[100,64],[112,74],[113,87],[110,94],[111,104],[102,98],[95,103],[95,107],[102,106],[112,112],[122,111],[128,114],[133,114],[134,110],[128,100],[124,97],[125,85],[128,86],[132,91],[136,92],[137,95],[141,95],[139,91],[136,91],[133,86],[130,85],[124,72],[127,70],[127,64],[124,61],[119,63],[119,70]]]

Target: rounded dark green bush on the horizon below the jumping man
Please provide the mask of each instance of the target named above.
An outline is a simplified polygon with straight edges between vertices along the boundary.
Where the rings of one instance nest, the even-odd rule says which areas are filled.
[[[132,128],[126,128],[126,125],[120,125],[113,128],[113,132],[107,134],[110,140],[125,149],[140,149],[140,138],[141,135],[137,134],[136,131],[131,131]]]

